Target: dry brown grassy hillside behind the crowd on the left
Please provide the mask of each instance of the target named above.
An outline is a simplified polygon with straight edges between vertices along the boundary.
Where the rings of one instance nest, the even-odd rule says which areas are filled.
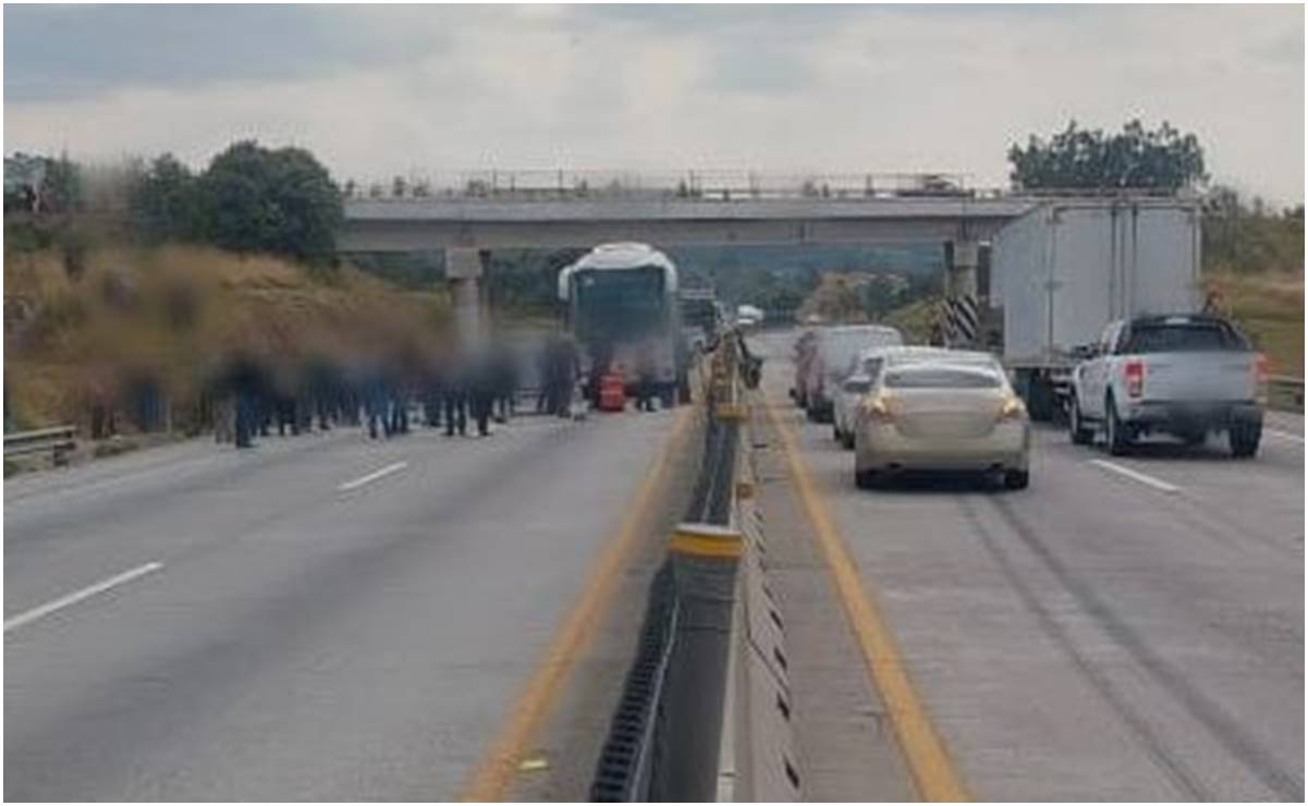
[[[14,427],[84,424],[88,400],[149,382],[174,421],[233,351],[269,362],[421,349],[443,294],[352,268],[310,273],[213,249],[98,249],[69,276],[55,251],[7,254],[5,398]]]

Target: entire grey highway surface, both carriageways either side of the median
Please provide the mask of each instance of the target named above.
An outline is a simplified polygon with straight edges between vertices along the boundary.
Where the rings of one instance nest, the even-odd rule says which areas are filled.
[[[1303,798],[1303,417],[858,491],[793,335],[752,444],[807,798]],[[7,482],[5,797],[586,798],[692,411]]]

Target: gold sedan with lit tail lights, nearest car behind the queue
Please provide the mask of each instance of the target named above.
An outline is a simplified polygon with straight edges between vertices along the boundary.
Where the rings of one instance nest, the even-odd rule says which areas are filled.
[[[866,489],[897,471],[978,471],[1023,489],[1029,454],[1027,408],[998,361],[942,355],[882,369],[857,415],[854,480]]]

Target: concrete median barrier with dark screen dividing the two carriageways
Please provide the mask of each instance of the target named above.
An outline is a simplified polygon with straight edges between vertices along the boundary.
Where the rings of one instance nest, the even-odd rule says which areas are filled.
[[[793,801],[785,618],[766,542],[738,357],[714,356],[704,461],[650,589],[627,690],[596,764],[598,801]]]

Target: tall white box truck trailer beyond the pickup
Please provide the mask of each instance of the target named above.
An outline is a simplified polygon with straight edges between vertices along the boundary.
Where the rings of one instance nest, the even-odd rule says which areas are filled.
[[[1057,200],[991,245],[1003,361],[1033,419],[1066,411],[1071,368],[1114,319],[1201,304],[1199,205],[1179,198]]]

